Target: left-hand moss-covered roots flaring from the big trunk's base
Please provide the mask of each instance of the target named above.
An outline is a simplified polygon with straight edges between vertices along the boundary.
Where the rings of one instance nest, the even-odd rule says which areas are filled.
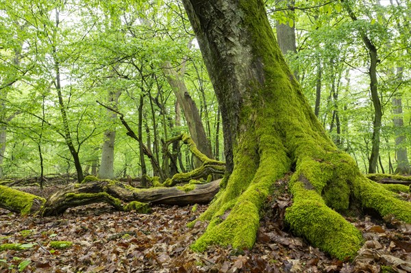
[[[283,177],[289,169],[284,149],[273,148],[279,147],[273,145],[279,139],[273,138],[273,134],[266,137],[263,135],[260,138],[260,147],[263,148],[259,165],[252,155],[256,151],[253,148],[255,142],[246,142],[240,147],[242,151],[234,159],[236,164],[227,187],[200,218],[211,220],[206,233],[192,245],[193,250],[203,251],[213,244],[231,245],[234,249],[242,250],[251,248],[256,242],[262,206],[273,190],[275,180]]]

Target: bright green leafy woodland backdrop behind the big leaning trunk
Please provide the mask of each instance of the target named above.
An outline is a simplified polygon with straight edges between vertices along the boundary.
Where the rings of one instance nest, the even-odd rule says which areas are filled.
[[[295,27],[297,52],[286,55],[288,63],[313,108],[319,100],[318,117],[332,140],[364,172],[375,110],[362,34],[377,48],[377,171],[395,172],[397,152],[411,148],[410,1],[290,2],[266,1],[273,29]],[[74,173],[76,153],[81,171],[97,174],[107,131],[116,131],[114,176],[140,177],[142,160],[147,174],[156,174],[149,158],[140,157],[141,143],[96,101],[140,130],[162,166],[168,160],[162,140],[188,131],[166,63],[184,73],[214,157],[224,158],[219,107],[181,3],[0,1],[0,21],[0,177]],[[195,167],[185,146],[167,151],[179,159],[178,171]]]

